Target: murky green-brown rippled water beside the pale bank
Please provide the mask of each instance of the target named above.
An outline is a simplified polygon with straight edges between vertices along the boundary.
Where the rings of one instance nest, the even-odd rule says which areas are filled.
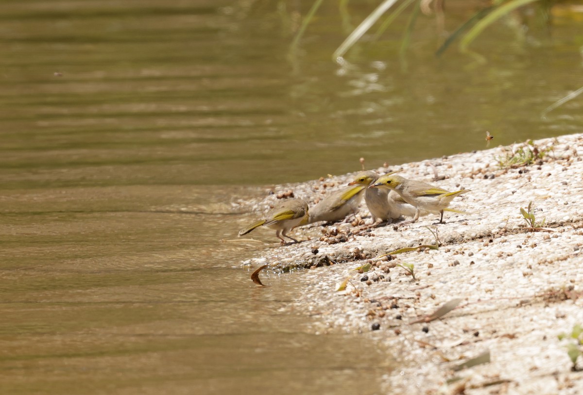
[[[452,31],[477,5],[448,2]],[[376,2],[3,1],[0,392],[378,392],[395,355],[317,335],[303,273],[256,288],[239,197],[387,161],[581,131],[581,13],[513,15],[473,63],[407,17],[339,66]],[[522,18],[531,29],[517,26]],[[259,235],[271,240],[271,233]]]

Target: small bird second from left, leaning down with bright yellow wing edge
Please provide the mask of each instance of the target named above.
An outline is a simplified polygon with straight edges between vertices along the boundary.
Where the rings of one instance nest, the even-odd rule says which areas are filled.
[[[357,185],[330,193],[310,209],[308,220],[301,225],[318,221],[338,222],[350,214],[355,214],[359,209],[365,189],[366,185]]]

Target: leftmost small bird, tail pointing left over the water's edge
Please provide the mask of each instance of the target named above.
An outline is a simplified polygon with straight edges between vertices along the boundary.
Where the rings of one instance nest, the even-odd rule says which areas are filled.
[[[303,199],[291,199],[276,204],[273,209],[269,210],[261,220],[252,223],[239,231],[239,236],[248,234],[260,226],[268,226],[275,229],[275,235],[285,244],[287,237],[294,242],[298,242],[293,237],[288,236],[287,231],[299,225],[308,218],[308,204]],[[283,236],[283,237],[282,237]]]

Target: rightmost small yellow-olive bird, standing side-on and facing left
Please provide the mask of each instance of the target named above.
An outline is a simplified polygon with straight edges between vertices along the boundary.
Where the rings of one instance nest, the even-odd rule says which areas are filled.
[[[421,210],[429,211],[430,213],[441,214],[439,223],[443,222],[444,211],[454,211],[455,213],[463,213],[454,209],[448,209],[449,203],[454,197],[462,193],[469,192],[469,189],[462,189],[461,191],[449,192],[445,189],[438,188],[427,184],[423,181],[415,181],[407,179],[398,175],[384,175],[377,179],[373,185],[368,188],[384,188],[392,189],[397,192],[405,202],[416,207],[415,216],[411,222],[419,219]]]

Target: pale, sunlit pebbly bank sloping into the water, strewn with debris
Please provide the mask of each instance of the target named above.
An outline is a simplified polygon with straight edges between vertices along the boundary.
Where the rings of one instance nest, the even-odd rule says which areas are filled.
[[[498,163],[517,158],[533,163]],[[429,215],[359,231],[370,223],[363,201],[361,217],[352,218],[356,227],[296,228],[290,234],[299,244],[264,249],[241,264],[268,264],[279,272],[311,268],[293,308],[314,316],[316,333],[361,333],[406,366],[380,378],[385,393],[583,393],[583,372],[571,371],[568,341],[557,338],[583,325],[583,134],[390,170],[451,191],[470,189],[450,207],[472,214],[446,212],[445,224]],[[249,206],[262,211],[290,189],[312,206],[322,191],[344,188],[349,177],[278,186]],[[536,229],[521,214],[531,201],[535,222],[545,220]],[[429,229],[437,230],[438,249],[377,258],[436,244]],[[364,273],[355,270],[368,264]],[[406,264],[413,264],[415,280]],[[338,291],[342,283],[346,289]],[[451,312],[423,319],[458,298]],[[486,350],[490,362],[453,370]]]

